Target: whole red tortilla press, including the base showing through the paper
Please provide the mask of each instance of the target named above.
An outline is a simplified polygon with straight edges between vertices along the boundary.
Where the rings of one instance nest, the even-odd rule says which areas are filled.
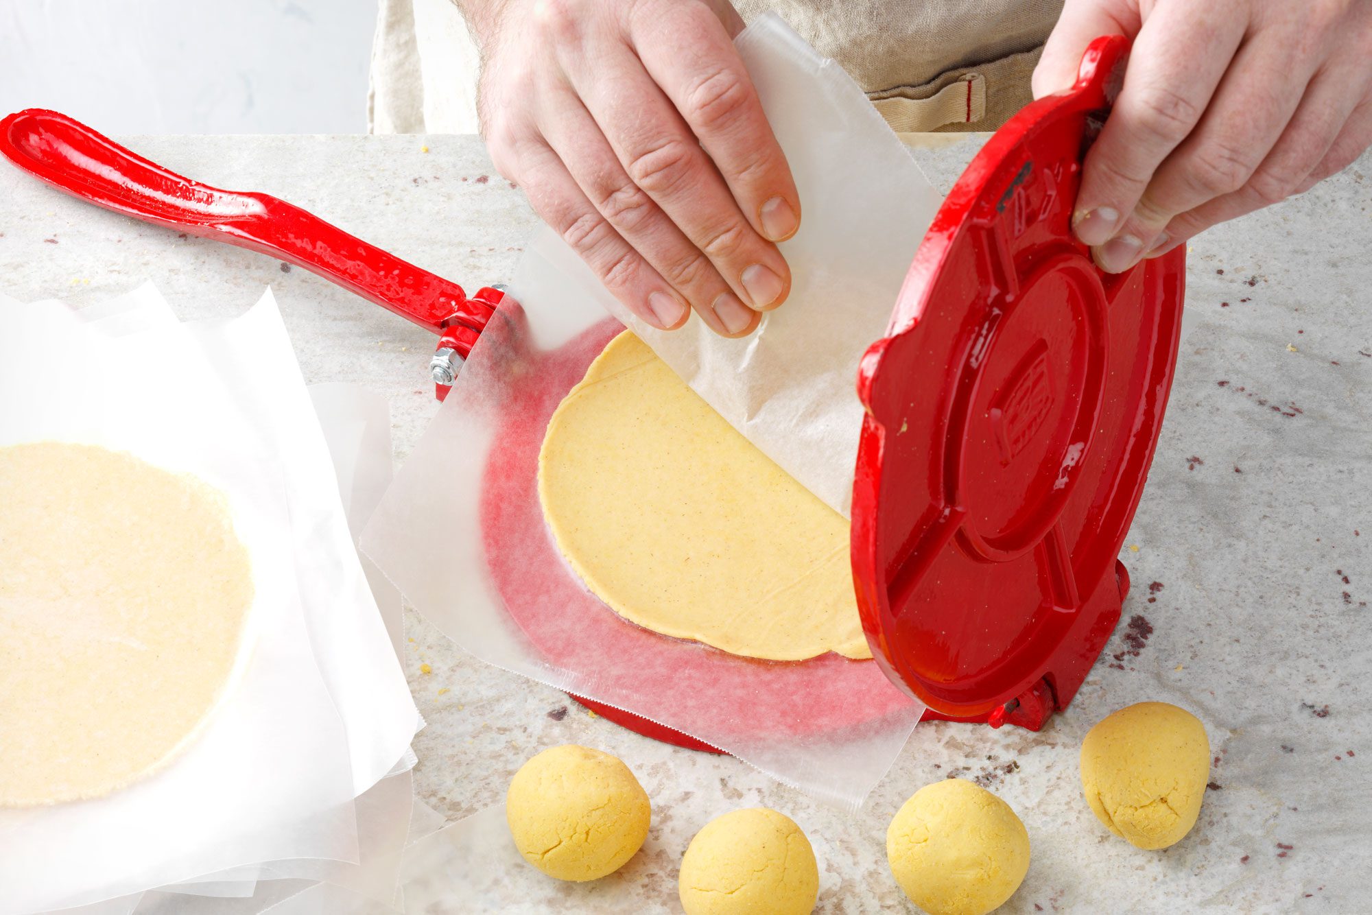
[[[504,377],[487,380],[508,395],[505,447],[484,475],[487,558],[549,664],[598,667],[724,734],[860,728],[899,713],[897,686],[936,717],[1033,728],[1072,700],[1120,617],[1126,576],[1115,556],[1157,444],[1183,299],[1183,248],[1109,277],[1070,235],[1081,161],[1125,51],[1124,38],[1093,43],[1070,92],[1030,104],[978,154],[915,255],[889,336],[862,361],[853,579],[886,676],[837,656],[730,658],[720,675],[711,649],[606,612],[560,561],[534,490],[538,446],[612,322],[552,354],[512,351]],[[100,206],[309,266],[439,331],[458,354],[479,332],[509,331],[519,348],[516,305],[486,324],[494,291],[472,303],[303,210],[196,185],[62,115],[11,115],[0,154]],[[230,198],[224,213],[206,211]]]

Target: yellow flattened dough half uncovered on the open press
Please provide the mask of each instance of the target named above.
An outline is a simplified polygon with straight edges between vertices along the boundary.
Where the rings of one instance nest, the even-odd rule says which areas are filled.
[[[624,619],[748,657],[871,657],[848,521],[627,331],[553,413],[538,495],[568,564]]]

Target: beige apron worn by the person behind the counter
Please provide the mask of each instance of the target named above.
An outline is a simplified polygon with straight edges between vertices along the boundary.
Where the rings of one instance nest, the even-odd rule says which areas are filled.
[[[899,133],[995,130],[1030,100],[1029,77],[1062,0],[734,0],[775,10],[837,60]],[[477,52],[453,0],[381,0],[373,133],[476,133]]]

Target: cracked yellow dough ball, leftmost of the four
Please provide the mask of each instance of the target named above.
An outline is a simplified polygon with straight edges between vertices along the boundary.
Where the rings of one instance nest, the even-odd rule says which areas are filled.
[[[505,819],[530,864],[560,881],[593,881],[624,866],[648,838],[648,793],[619,759],[553,746],[514,772]]]

